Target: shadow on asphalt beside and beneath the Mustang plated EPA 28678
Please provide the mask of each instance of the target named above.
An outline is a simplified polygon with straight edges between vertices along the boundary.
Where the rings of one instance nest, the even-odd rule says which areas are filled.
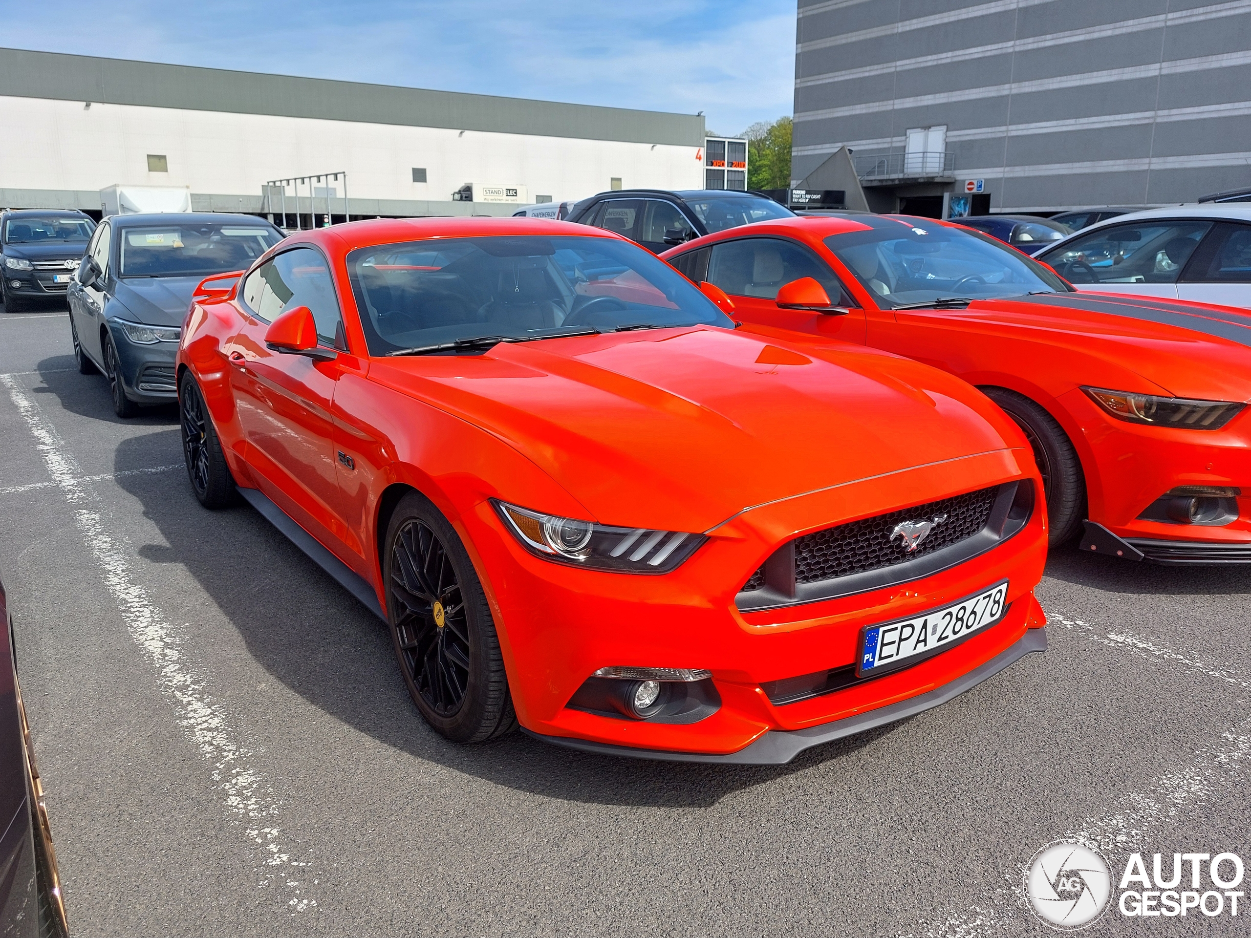
[[[130,466],[139,451],[150,459],[159,448],[169,450],[170,461],[181,459],[179,431],[125,440],[115,461]],[[767,767],[594,755],[520,732],[488,744],[458,745],[435,734],[409,699],[387,625],[261,515],[246,505],[205,510],[181,474],[119,477],[118,484],[143,504],[165,540],[136,545],[139,555],[184,567],[276,680],[387,745],[494,784],[594,804],[708,807],[733,792],[854,753],[901,725]],[[179,615],[194,617],[194,605]],[[327,765],[332,770],[333,760]]]

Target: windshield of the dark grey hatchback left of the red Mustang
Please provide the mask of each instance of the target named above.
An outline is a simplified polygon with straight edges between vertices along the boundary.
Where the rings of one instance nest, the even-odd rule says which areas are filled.
[[[195,223],[123,228],[118,276],[208,276],[244,270],[283,240],[265,225]]]

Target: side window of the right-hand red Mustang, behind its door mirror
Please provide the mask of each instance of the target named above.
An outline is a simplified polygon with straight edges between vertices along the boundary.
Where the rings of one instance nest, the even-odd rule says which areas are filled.
[[[731,295],[772,300],[784,284],[803,276],[824,286],[831,303],[856,305],[821,258],[781,238],[742,238],[714,244],[706,279]]]

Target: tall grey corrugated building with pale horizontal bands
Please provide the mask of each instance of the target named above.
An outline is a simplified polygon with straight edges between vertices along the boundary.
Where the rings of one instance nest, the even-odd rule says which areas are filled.
[[[1247,0],[799,0],[794,84],[794,180],[847,146],[877,210],[977,179],[992,211],[1251,185]]]

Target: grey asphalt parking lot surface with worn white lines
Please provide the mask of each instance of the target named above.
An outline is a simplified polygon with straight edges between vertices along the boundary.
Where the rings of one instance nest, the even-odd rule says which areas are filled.
[[[64,310],[0,314],[0,440],[79,934],[1050,934],[1020,890],[1048,842],[1117,873],[1251,843],[1248,569],[1057,554],[1046,654],[782,768],[459,748],[382,623],[253,509],[199,507],[173,408],[113,415]]]

